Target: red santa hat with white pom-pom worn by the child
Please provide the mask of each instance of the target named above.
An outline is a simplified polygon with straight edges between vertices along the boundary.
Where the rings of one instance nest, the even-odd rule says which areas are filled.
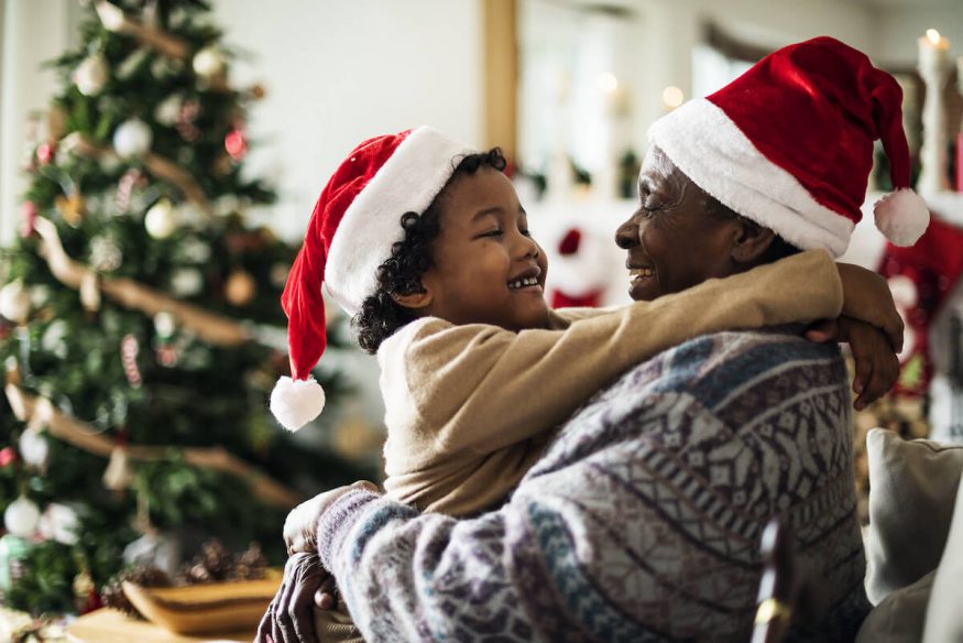
[[[291,377],[277,381],[271,412],[296,431],[317,417],[325,393],[311,369],[327,346],[321,283],[349,315],[377,291],[377,268],[404,240],[401,218],[424,212],[473,150],[427,127],[364,141],[341,163],[311,212],[287,276]]]

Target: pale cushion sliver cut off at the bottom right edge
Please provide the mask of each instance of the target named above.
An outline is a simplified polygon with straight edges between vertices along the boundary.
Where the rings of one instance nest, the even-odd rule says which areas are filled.
[[[963,490],[963,482],[960,483]],[[930,604],[927,609],[923,643],[963,641],[963,610],[960,587],[963,585],[963,492],[956,492],[956,511],[940,566],[937,567]]]

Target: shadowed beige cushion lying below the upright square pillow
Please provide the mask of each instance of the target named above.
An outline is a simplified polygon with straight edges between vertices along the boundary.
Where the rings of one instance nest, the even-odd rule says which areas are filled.
[[[935,574],[930,571],[883,599],[863,621],[856,643],[918,643],[922,639]]]

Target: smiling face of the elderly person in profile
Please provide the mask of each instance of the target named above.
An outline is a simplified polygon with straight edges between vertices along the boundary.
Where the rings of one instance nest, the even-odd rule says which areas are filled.
[[[628,251],[633,299],[652,301],[744,268],[733,257],[741,219],[719,214],[657,148],[643,162],[638,198],[638,209],[615,231],[615,242]]]

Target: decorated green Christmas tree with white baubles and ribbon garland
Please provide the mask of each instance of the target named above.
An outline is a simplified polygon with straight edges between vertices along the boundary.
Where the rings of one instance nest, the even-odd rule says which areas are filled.
[[[295,250],[245,222],[274,196],[241,172],[263,89],[230,86],[206,2],[81,4],[0,263],[0,589],[32,612],[210,537],[278,564],[291,506],[371,473],[266,411]],[[330,405],[344,385],[316,377]]]

